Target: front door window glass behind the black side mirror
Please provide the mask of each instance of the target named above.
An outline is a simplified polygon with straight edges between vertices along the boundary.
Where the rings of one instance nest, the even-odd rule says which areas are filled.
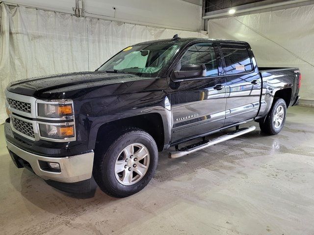
[[[212,44],[201,43],[190,47],[181,58],[181,65],[206,66],[207,76],[217,76],[217,60]]]

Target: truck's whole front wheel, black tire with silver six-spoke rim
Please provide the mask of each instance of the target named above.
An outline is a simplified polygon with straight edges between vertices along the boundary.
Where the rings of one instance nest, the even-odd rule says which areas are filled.
[[[126,129],[113,138],[110,146],[96,151],[94,178],[108,195],[127,197],[152,179],[158,162],[157,144],[139,129]]]

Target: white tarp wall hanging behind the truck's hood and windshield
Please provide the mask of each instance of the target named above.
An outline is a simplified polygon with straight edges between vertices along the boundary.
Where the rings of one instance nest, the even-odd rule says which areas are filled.
[[[180,37],[207,37],[198,32],[124,24],[70,14],[0,4],[0,123],[5,87],[27,77],[94,71],[132,44]]]

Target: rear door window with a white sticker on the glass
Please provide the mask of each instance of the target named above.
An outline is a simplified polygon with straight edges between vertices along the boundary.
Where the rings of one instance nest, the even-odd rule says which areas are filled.
[[[249,52],[241,45],[221,45],[225,58],[226,74],[237,74],[253,70]]]

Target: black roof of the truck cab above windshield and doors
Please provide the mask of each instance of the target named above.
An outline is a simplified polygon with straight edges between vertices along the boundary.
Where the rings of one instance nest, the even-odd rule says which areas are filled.
[[[133,46],[139,46],[139,45],[148,45],[148,44],[176,44],[176,45],[183,45],[183,44],[189,44],[191,42],[195,41],[209,41],[209,43],[213,42],[223,42],[223,43],[240,43],[240,44],[248,44],[247,42],[242,41],[235,41],[235,40],[227,40],[227,39],[210,39],[210,38],[171,38],[171,39],[160,39],[160,40],[154,40],[154,41],[147,41],[135,44]]]

